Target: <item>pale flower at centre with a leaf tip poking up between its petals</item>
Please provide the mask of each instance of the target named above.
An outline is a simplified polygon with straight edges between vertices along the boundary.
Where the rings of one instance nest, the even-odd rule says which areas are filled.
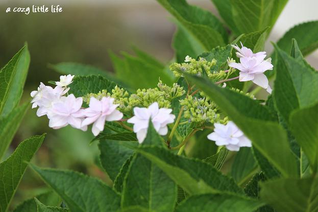
[[[134,124],[134,132],[137,134],[138,142],[141,144],[146,137],[150,119],[159,135],[166,135],[168,133],[167,124],[174,123],[176,118],[174,114],[170,114],[171,112],[172,109],[159,109],[158,103],[155,102],[148,108],[135,107],[135,115],[127,122]]]

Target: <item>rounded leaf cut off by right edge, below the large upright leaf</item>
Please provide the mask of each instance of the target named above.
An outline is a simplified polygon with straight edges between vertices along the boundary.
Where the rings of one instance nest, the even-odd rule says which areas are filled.
[[[290,126],[297,142],[302,147],[313,168],[318,168],[318,104],[312,107],[295,110],[290,115]],[[303,170],[302,170],[303,171]]]

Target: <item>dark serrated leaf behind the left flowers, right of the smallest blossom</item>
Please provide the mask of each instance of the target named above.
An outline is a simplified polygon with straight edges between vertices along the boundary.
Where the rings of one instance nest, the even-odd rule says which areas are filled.
[[[98,93],[105,89],[111,91],[116,84],[102,76],[76,76],[72,84],[69,85],[69,92],[76,97],[83,97],[88,93]]]

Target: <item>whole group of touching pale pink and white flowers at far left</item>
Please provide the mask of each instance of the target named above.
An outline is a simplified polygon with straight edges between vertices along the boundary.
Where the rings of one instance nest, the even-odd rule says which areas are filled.
[[[96,136],[104,130],[106,121],[120,120],[123,113],[116,110],[118,105],[113,104],[114,99],[104,97],[101,101],[91,98],[88,108],[82,108],[83,98],[76,98],[73,94],[64,96],[72,83],[74,76],[61,76],[56,82],[56,87],[40,84],[38,90],[31,92],[33,98],[32,108],[39,107],[37,115],[47,115],[49,127],[59,129],[70,125],[74,128],[87,130],[87,126],[93,124],[92,132]]]

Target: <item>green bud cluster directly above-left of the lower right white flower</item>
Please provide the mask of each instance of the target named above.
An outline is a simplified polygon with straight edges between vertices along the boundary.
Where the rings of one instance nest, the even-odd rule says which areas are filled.
[[[217,113],[217,107],[209,98],[197,98],[188,96],[180,100],[180,105],[184,106],[184,117],[189,122],[198,124],[224,122],[220,114]]]

